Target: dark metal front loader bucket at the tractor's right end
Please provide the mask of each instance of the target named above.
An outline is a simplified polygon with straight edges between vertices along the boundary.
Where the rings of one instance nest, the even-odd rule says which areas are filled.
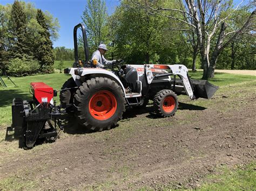
[[[218,86],[214,86],[207,80],[191,80],[194,88],[194,95],[199,98],[210,99],[214,93],[219,89]]]

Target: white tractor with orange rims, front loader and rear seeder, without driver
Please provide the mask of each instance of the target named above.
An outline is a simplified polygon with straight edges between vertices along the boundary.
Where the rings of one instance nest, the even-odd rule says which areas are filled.
[[[77,30],[82,30],[85,60],[78,59]],[[78,24],[73,30],[75,62],[64,69],[71,75],[60,90],[60,105],[53,96],[57,90],[43,82],[32,82],[33,99],[12,102],[12,128],[21,132],[25,147],[37,142],[52,142],[57,138],[57,128],[62,121],[74,115],[79,124],[93,131],[109,130],[117,125],[127,107],[145,107],[153,101],[153,112],[160,117],[170,117],[178,108],[177,95],[187,95],[192,100],[210,99],[217,86],[206,80],[192,80],[184,65],[125,65],[97,68],[89,59],[86,30]],[[116,69],[118,68],[118,69]]]

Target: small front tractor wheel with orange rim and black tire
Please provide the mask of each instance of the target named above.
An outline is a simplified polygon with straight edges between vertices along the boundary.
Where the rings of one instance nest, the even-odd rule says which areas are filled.
[[[154,111],[161,117],[170,117],[175,114],[178,109],[177,95],[170,89],[158,91],[154,96]]]

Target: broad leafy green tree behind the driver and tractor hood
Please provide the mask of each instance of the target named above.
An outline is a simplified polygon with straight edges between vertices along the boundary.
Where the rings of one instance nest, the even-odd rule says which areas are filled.
[[[158,61],[169,43],[164,41],[166,31],[161,30],[166,18],[151,16],[131,1],[123,1],[112,17],[116,20],[112,23],[112,38],[121,58],[133,63]]]

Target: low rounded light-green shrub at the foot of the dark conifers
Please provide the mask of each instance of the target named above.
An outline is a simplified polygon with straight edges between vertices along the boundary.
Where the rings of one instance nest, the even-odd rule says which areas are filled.
[[[9,61],[7,72],[10,75],[24,76],[37,73],[39,67],[37,60],[15,58]]]

